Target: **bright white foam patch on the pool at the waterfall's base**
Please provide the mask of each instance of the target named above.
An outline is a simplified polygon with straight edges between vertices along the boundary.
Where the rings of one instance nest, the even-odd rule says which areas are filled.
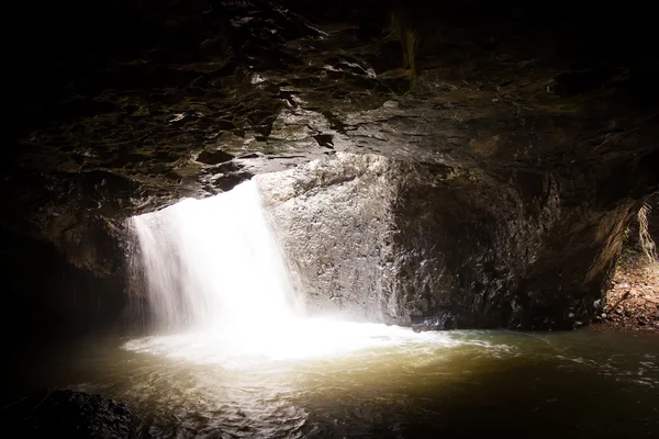
[[[447,335],[417,334],[396,326],[295,317],[267,330],[208,328],[132,340],[125,347],[200,364],[243,369],[277,361],[331,358],[390,347],[400,350],[423,345],[448,347],[460,344]]]

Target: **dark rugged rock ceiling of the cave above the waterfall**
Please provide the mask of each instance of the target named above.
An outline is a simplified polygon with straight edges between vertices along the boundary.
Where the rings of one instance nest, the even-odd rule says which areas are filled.
[[[335,151],[491,172],[657,164],[643,10],[425,3],[18,5],[3,195],[18,219],[71,200],[110,217]]]

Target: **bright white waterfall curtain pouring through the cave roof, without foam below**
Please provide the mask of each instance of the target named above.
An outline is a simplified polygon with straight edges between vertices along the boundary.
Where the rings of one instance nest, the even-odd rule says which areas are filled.
[[[294,313],[287,263],[257,184],[134,216],[136,289],[159,331],[268,326]]]

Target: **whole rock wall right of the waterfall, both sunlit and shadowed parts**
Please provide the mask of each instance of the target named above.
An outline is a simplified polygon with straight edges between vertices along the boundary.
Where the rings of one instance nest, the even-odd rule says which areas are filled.
[[[570,205],[549,173],[373,155],[257,181],[309,309],[434,329],[589,323],[637,205]]]

